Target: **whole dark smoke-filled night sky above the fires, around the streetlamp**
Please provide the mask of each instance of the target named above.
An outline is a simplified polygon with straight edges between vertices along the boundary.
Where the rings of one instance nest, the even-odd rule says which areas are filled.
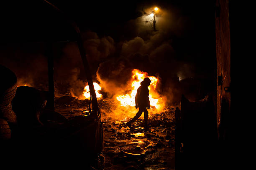
[[[177,88],[170,85],[177,77],[198,79],[206,91],[215,90],[215,1],[49,2],[79,26],[95,80],[98,73],[101,80],[122,85],[138,68],[161,77],[162,90],[169,93],[174,93],[169,87]],[[155,6],[157,31],[152,31],[152,22],[145,21]],[[84,72],[76,34],[62,15],[43,0],[4,2],[0,15],[0,64],[20,83],[47,86],[45,44],[52,42],[56,83],[79,86]]]

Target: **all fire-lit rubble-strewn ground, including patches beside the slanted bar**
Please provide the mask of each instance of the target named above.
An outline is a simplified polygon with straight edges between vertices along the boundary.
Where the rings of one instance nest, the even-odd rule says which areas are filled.
[[[56,112],[68,119],[88,115],[88,100],[64,96],[56,100]],[[110,109],[111,102],[98,100],[101,109]],[[131,129],[125,123],[102,114],[105,157],[104,170],[174,170],[174,110],[149,111],[148,132],[144,132],[143,114]]]

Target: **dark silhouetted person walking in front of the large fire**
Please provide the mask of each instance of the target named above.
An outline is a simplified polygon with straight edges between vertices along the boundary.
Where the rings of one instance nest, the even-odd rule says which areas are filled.
[[[136,109],[139,107],[139,110],[137,114],[129,122],[126,123],[126,125],[129,128],[131,128],[131,124],[141,116],[142,112],[144,112],[144,123],[145,123],[144,130],[146,131],[148,130],[147,108],[148,109],[150,108],[150,101],[148,98],[148,95],[149,95],[148,86],[150,85],[150,83],[151,83],[151,80],[148,77],[146,77],[141,82],[141,86],[138,87],[137,94],[135,96],[135,105],[136,105],[135,107]]]

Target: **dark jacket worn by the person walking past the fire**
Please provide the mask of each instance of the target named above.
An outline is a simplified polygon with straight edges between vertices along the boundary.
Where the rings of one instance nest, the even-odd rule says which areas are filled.
[[[141,82],[141,86],[138,87],[137,94],[135,96],[135,104],[137,107],[150,107],[150,101],[148,98],[149,90],[148,86]]]

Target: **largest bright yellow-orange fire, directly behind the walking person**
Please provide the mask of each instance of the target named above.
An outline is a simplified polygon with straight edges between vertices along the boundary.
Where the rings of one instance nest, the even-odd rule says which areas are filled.
[[[116,97],[118,101],[120,101],[121,106],[135,106],[135,96],[137,93],[138,87],[141,86],[141,81],[147,76],[148,74],[146,72],[142,72],[138,69],[133,70],[133,76],[132,76],[132,83],[131,87],[133,88],[131,94],[125,94],[125,95],[119,95]],[[148,77],[151,80],[150,86],[148,87],[149,90],[149,101],[150,105],[156,107],[156,109],[159,109],[161,107],[162,98],[159,97],[158,93],[156,92],[156,85],[159,82],[159,80],[154,77],[150,76]],[[154,97],[153,97],[154,96]],[[159,97],[159,98],[156,98]]]

